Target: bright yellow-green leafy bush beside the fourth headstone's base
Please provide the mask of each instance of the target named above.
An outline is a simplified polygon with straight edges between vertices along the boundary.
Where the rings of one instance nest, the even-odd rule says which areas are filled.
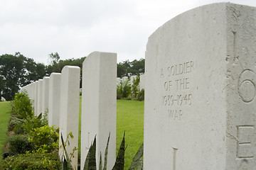
[[[58,129],[45,125],[32,129],[28,140],[34,145],[37,152],[52,152],[58,149]]]

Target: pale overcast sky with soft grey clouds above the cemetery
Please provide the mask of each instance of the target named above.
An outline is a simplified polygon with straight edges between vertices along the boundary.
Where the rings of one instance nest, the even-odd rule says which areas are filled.
[[[191,8],[214,0],[0,0],[0,55],[21,52],[48,64],[117,52],[117,62],[144,58],[149,35]],[[230,1],[256,6],[255,0]]]

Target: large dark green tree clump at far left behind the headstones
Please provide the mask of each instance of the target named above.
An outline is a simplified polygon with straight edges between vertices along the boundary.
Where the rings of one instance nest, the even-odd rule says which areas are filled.
[[[26,86],[46,75],[46,66],[36,64],[20,52],[0,56],[0,94],[7,101],[13,100],[20,86]]]

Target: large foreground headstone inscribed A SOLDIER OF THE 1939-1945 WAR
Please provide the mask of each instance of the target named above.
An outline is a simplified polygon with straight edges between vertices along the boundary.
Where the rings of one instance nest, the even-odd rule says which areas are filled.
[[[256,8],[171,19],[146,45],[144,169],[255,169]]]

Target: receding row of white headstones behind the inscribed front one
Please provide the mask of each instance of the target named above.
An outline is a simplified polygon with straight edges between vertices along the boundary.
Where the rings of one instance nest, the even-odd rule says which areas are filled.
[[[93,73],[93,74],[92,74]],[[107,52],[92,52],[83,62],[82,70],[82,115],[81,115],[81,166],[84,165],[88,149],[94,137],[97,138],[97,153],[105,153],[107,138],[108,169],[114,165],[116,155],[116,77],[117,55]],[[68,155],[73,153],[73,168],[78,168],[78,125],[80,101],[80,67],[65,66],[61,74],[52,73],[38,81],[24,86],[33,101],[35,115],[47,113],[49,125],[60,128],[60,137],[68,137],[70,145],[66,147]],[[61,144],[61,140],[59,140]],[[59,149],[63,158],[63,147]],[[99,155],[97,162],[99,162]],[[102,155],[104,163],[105,155]],[[83,169],[83,168],[82,168]]]

